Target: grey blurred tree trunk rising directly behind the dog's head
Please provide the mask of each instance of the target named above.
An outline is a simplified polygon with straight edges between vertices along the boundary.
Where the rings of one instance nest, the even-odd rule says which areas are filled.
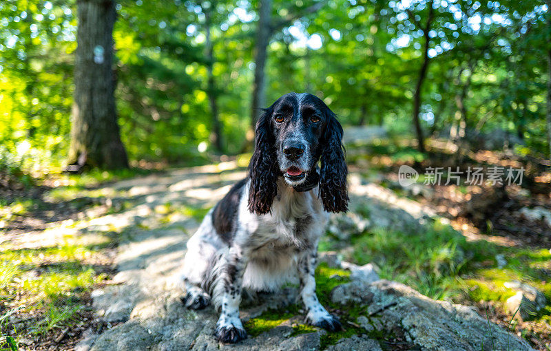
[[[251,126],[255,127],[256,118],[261,109],[266,107],[266,74],[264,67],[268,57],[268,44],[272,34],[271,8],[272,0],[260,0],[258,9],[258,29],[256,31],[256,48],[254,53],[253,101],[251,104]]]

